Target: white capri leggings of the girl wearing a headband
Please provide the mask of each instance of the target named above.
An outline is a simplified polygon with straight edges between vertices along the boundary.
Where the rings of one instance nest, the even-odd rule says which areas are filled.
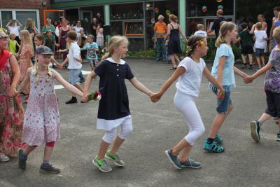
[[[174,97],[174,106],[183,113],[183,116],[188,123],[190,131],[188,132],[188,135],[186,135],[185,139],[191,146],[193,146],[195,141],[205,132],[200,112],[197,110],[197,106],[195,105],[195,97],[182,94],[181,92],[176,92]]]

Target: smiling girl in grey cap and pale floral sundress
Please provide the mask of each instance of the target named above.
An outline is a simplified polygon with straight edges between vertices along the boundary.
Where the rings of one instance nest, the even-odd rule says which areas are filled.
[[[27,76],[18,90],[21,92],[28,83],[31,83],[22,130],[22,141],[27,144],[27,148],[18,151],[18,163],[21,169],[25,169],[27,155],[36,146],[45,144],[41,172],[58,173],[60,170],[49,164],[55,141],[60,137],[59,112],[53,79],[56,79],[64,88],[75,95],[82,97],[83,92],[66,82],[57,71],[49,69],[51,55],[52,50],[48,47],[41,46],[36,49],[38,61],[35,67],[27,69]]]

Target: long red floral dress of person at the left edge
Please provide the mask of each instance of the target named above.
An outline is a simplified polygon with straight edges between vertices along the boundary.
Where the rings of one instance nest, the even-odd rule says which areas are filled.
[[[0,70],[0,152],[15,155],[18,148],[25,148],[25,144],[21,142],[25,111],[20,95],[8,97],[13,82],[9,59],[10,57]]]

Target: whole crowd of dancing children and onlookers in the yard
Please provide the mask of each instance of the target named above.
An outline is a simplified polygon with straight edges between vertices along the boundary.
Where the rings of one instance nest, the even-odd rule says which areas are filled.
[[[80,22],[77,22],[75,27],[71,27],[64,18],[59,27],[58,42],[55,41],[56,29],[52,27],[49,19],[41,34],[36,34],[34,20],[31,19],[27,20],[25,29],[19,33],[10,33],[8,36],[6,33],[0,32],[0,160],[8,161],[7,155],[13,155],[18,150],[18,165],[21,169],[26,169],[28,155],[37,146],[45,145],[41,171],[60,172],[60,169],[49,163],[52,150],[60,136],[59,111],[53,80],[57,80],[71,92],[72,97],[66,104],[73,104],[78,102],[76,96],[81,97],[81,102],[89,101],[88,91],[92,79],[96,76],[99,76],[99,91],[102,95],[99,101],[97,129],[104,130],[105,134],[102,137],[99,152],[93,158],[92,163],[102,172],[112,170],[106,160],[113,160],[113,163],[120,167],[125,166],[118,151],[133,128],[125,79],[129,80],[139,91],[148,95],[152,102],[158,102],[172,83],[178,79],[174,106],[186,119],[189,132],[176,146],[165,151],[169,161],[178,169],[202,166],[200,162],[190,159],[189,155],[195,141],[205,131],[200,112],[195,104],[195,98],[200,94],[203,75],[209,81],[209,89],[217,97],[217,113],[209,136],[204,141],[204,150],[214,153],[225,151],[222,144],[226,138],[219,134],[219,130],[233,109],[230,93],[236,86],[235,74],[241,76],[244,83],[251,83],[255,78],[266,73],[267,109],[258,120],[250,123],[251,136],[256,142],[260,141],[262,124],[269,118],[276,118],[276,123],[279,125],[279,132],[276,133],[277,140],[280,141],[280,27],[276,27],[279,17],[276,15],[274,19],[275,27],[272,30],[272,36],[276,45],[272,48],[268,62],[263,64],[263,67],[260,66],[255,74],[249,76],[235,67],[235,56],[231,45],[237,40],[241,41],[244,43],[241,45],[242,55],[251,57],[253,42],[246,37],[254,34],[255,55],[258,62],[261,62],[265,48],[261,48],[257,41],[260,36],[262,41],[267,40],[267,36],[262,32],[264,23],[261,16],[259,22],[253,25],[250,31],[248,25],[242,23],[242,31],[238,36],[237,25],[223,20],[221,11],[218,11],[217,15],[218,23],[214,23],[214,27],[211,28],[211,31],[216,31],[216,27],[218,27],[215,43],[216,56],[211,72],[202,58],[207,55],[208,50],[207,35],[203,32],[203,25],[199,25],[199,32],[190,36],[187,41],[175,15],[169,15],[169,25],[162,22],[162,16],[159,17],[159,22],[155,25],[160,43],[158,47],[162,48],[162,52],[159,53],[165,57],[163,48],[167,46],[167,54],[172,60],[172,69],[175,71],[158,92],[149,90],[139,82],[129,64],[123,60],[128,51],[128,40],[125,36],[111,37],[102,62],[98,61],[97,50],[101,46],[95,40],[97,41],[97,36],[102,34],[102,26],[98,25],[97,19],[94,19],[92,23],[95,35],[89,34],[87,39],[83,39],[85,33],[80,27]],[[13,25],[13,27],[16,30],[15,28],[20,29],[22,26]],[[186,57],[181,62],[176,55],[176,53],[181,53],[179,34],[188,43]],[[20,43],[16,40],[17,36],[20,38]],[[10,41],[15,43],[13,50],[9,48],[10,51],[6,50],[7,46],[10,46],[8,45],[9,37]],[[16,51],[15,46],[19,46],[18,55],[16,52],[13,55],[13,51]],[[55,48],[60,48],[58,52],[65,54],[61,64],[54,58]],[[92,71],[87,76],[83,88],[79,83],[79,76],[83,66],[81,51],[84,50],[87,51],[86,56]],[[31,63],[32,58],[34,58],[34,64]],[[160,60],[160,56],[158,56],[158,60]],[[178,66],[176,61],[179,63]],[[54,63],[52,67],[59,67],[59,69],[68,64],[69,82],[65,81],[55,69],[49,67],[50,62]],[[259,65],[262,64],[259,63]],[[25,112],[20,94],[26,95],[27,109]],[[117,134],[119,126],[121,126],[121,131]],[[112,147],[109,149],[111,144]],[[179,153],[181,154],[179,155]]]

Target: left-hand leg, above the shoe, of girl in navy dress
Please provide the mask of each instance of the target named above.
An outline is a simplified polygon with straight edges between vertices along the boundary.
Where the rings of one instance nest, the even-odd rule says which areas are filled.
[[[116,137],[117,135],[117,128],[113,128],[110,131],[106,131],[106,133],[104,134],[104,137],[102,138],[102,141],[100,143],[100,147],[99,147],[99,152],[97,155],[97,158],[100,159],[104,159],[105,154],[110,146],[110,144],[112,143],[113,139]]]

